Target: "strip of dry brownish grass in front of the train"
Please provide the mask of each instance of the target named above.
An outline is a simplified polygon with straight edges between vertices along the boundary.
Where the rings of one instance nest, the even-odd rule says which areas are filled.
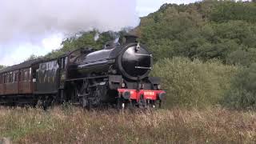
[[[256,113],[4,108],[0,110],[0,136],[15,143],[254,143]]]

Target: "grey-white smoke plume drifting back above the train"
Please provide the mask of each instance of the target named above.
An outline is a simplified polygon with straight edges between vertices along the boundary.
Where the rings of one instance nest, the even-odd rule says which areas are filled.
[[[0,0],[0,44],[136,25],[135,0]]]

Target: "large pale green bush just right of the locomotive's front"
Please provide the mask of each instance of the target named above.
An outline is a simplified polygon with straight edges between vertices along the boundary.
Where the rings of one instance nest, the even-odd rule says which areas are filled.
[[[221,62],[205,62],[189,58],[165,58],[154,65],[153,76],[162,78],[166,90],[166,107],[205,108],[222,100],[230,88],[230,78],[238,67],[224,66]]]

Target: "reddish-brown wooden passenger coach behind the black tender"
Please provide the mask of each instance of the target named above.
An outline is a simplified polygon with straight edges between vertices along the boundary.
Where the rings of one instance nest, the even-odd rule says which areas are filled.
[[[18,94],[23,96],[33,94],[35,88],[33,81],[36,78],[39,62],[42,60],[23,62],[0,70],[0,95],[12,97]]]

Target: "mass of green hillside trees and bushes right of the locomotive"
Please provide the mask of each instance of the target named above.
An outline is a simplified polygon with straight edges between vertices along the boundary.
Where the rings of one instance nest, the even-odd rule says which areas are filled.
[[[165,4],[136,31],[154,54],[168,107],[256,108],[255,2]]]

